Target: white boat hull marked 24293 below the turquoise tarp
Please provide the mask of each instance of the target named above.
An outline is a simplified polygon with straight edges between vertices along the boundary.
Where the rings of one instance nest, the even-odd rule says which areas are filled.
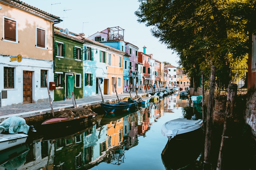
[[[0,151],[26,142],[26,134],[0,134]]]

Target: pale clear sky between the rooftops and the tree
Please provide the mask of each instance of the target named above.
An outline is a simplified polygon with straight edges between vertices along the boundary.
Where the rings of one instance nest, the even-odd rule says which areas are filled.
[[[153,54],[158,61],[167,61],[178,66],[179,57],[166,45],[153,37],[150,27],[138,23],[134,12],[139,8],[137,0],[23,0],[23,2],[60,17],[63,21],[55,24],[74,33],[84,33],[86,37],[109,27],[124,29],[124,41],[129,42],[146,54]]]

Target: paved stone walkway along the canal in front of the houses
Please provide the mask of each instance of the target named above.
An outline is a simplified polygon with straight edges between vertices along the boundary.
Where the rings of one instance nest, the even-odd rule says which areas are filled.
[[[148,93],[152,93],[150,89]],[[146,93],[147,94],[147,93]],[[138,97],[144,95],[142,90],[138,91]],[[132,97],[136,97],[135,91],[131,92]],[[123,99],[125,97],[130,97],[129,93],[118,94],[119,99]],[[104,102],[110,102],[117,100],[116,94],[114,95],[103,95]],[[94,96],[86,96],[82,99],[76,99],[77,107],[83,106],[91,106],[95,104],[102,103],[102,98],[100,94]],[[58,112],[61,110],[73,108],[72,100],[62,100],[62,101],[54,101],[52,102],[52,107],[54,112]],[[31,103],[31,104],[23,104],[16,106],[6,106],[0,108],[0,122],[7,119],[10,116],[19,116],[19,117],[31,117],[36,115],[41,115],[45,113],[51,113],[51,105],[50,102],[42,102],[42,103]]]

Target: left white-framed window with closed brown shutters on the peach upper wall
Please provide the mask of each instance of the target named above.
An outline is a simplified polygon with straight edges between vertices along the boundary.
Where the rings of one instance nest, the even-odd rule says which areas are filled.
[[[3,16],[3,40],[18,43],[17,20]]]

